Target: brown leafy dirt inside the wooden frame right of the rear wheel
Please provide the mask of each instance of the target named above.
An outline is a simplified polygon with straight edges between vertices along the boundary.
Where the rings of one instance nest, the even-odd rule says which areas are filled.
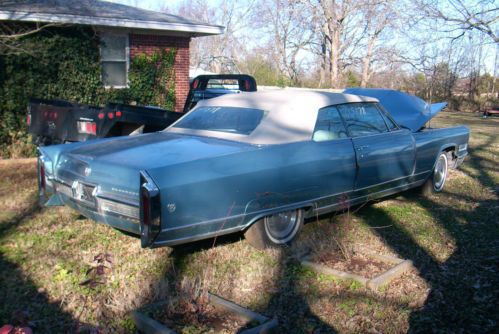
[[[393,264],[372,259],[360,253],[355,253],[349,259],[340,253],[321,253],[312,258],[313,262],[327,267],[357,274],[366,278],[374,278],[393,267]]]

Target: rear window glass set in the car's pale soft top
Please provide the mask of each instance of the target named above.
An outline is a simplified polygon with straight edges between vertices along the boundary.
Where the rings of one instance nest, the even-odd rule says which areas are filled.
[[[263,115],[263,110],[251,108],[199,107],[182,117],[174,127],[249,135]]]

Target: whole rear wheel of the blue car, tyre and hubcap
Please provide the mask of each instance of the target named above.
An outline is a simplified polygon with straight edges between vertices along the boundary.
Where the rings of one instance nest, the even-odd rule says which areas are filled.
[[[303,226],[303,210],[290,210],[266,216],[244,233],[248,243],[258,249],[289,244]]]

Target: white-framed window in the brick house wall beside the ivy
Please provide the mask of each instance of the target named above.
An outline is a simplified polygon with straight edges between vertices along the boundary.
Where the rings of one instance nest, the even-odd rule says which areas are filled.
[[[101,35],[102,82],[105,87],[124,88],[128,74],[128,35]]]

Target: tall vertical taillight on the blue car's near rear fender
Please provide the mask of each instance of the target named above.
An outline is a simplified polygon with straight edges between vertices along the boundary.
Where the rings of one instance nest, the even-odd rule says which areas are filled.
[[[151,246],[161,230],[159,188],[146,171],[140,172],[140,239],[142,247]]]

